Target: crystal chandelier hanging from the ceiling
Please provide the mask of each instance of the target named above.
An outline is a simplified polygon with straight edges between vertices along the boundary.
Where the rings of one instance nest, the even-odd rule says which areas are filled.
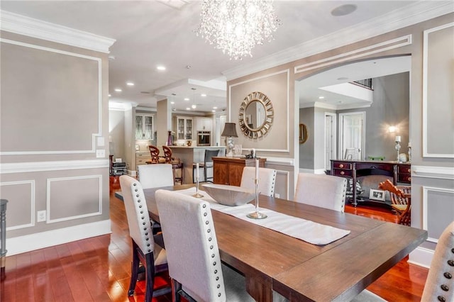
[[[252,57],[255,45],[270,42],[280,25],[272,0],[204,0],[195,32],[238,60]]]

